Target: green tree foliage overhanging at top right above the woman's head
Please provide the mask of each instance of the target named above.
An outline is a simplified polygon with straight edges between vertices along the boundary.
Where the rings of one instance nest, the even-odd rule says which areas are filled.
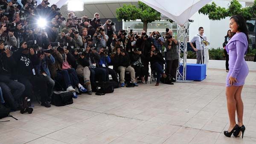
[[[242,8],[238,0],[232,0],[228,8],[222,8],[212,2],[212,4],[202,7],[198,12],[199,14],[208,15],[210,20],[221,20],[233,15],[242,15],[246,20],[251,20],[256,18],[256,0],[254,0],[252,6],[245,8]]]

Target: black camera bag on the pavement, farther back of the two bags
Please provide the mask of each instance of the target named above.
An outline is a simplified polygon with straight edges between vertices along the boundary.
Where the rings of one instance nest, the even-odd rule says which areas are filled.
[[[96,82],[93,88],[96,93],[113,93],[114,87],[112,82]]]

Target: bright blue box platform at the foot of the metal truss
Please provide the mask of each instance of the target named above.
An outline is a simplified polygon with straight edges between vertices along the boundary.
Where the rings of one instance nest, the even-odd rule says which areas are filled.
[[[180,73],[183,71],[183,66],[180,66]],[[202,81],[206,78],[206,65],[203,64],[189,64],[186,67],[186,79]]]

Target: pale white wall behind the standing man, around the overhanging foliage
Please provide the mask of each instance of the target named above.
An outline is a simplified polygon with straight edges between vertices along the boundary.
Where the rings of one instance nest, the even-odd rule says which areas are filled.
[[[217,6],[228,7],[230,1],[225,0],[213,0]],[[212,3],[212,2],[211,2]],[[209,3],[209,4],[211,4]],[[243,7],[245,7],[245,2],[239,2]],[[210,42],[210,48],[222,48],[222,43],[224,42],[224,36],[227,35],[227,30],[229,30],[229,20],[230,17],[226,17],[222,20],[209,20],[208,15],[195,13],[191,18],[195,20],[189,26],[189,40],[198,33],[198,28],[200,26],[204,27],[204,34],[207,36],[207,40]]]

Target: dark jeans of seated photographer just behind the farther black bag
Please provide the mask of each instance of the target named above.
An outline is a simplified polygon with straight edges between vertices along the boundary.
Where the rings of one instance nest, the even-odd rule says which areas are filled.
[[[99,76],[101,82],[106,82],[107,71],[103,68],[89,68],[90,81],[95,82],[95,75]]]

